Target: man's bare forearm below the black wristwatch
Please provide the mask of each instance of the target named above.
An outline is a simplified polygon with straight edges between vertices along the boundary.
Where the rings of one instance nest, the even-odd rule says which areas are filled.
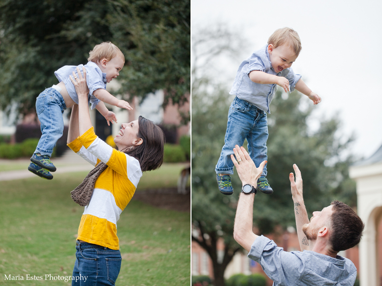
[[[258,237],[253,233],[253,201],[255,194],[246,195],[240,193],[237,202],[235,223],[233,227],[233,237],[245,250],[251,250],[253,242]]]

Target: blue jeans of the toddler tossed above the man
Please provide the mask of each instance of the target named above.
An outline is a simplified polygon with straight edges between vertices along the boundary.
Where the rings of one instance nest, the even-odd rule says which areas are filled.
[[[235,97],[228,112],[224,146],[215,167],[217,174],[233,174],[233,148],[236,144],[242,146],[245,139],[248,142],[249,155],[258,167],[262,161],[267,160],[267,114],[249,102]],[[262,175],[267,175],[267,164]]]

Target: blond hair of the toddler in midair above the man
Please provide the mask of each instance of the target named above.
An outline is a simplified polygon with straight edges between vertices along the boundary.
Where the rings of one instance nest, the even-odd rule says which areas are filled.
[[[294,51],[294,55],[298,56],[301,51],[301,41],[297,32],[291,28],[280,28],[268,39],[268,45],[273,44],[274,48],[287,44]]]

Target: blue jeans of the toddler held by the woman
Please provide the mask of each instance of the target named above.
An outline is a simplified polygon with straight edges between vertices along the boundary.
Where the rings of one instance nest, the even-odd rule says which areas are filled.
[[[65,101],[54,88],[45,89],[36,99],[36,112],[41,123],[42,136],[34,154],[52,155],[53,148],[64,132],[62,114],[66,109]]]

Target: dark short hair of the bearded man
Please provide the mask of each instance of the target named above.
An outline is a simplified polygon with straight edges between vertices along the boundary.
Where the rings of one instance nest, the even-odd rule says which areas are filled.
[[[364,223],[355,211],[347,204],[333,201],[331,215],[332,233],[329,242],[335,252],[356,246],[362,237]]]

